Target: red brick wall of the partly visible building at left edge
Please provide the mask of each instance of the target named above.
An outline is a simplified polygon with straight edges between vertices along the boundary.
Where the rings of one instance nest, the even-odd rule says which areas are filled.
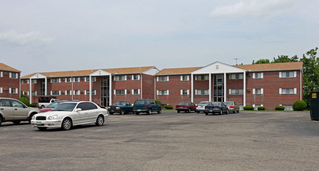
[[[2,93],[0,93],[0,97],[19,99],[20,98],[20,73],[12,72],[12,71],[1,71],[2,76],[0,77],[0,87],[2,87]],[[7,73],[7,74],[5,74]],[[18,78],[10,78],[10,73],[17,73]],[[8,90],[5,90],[5,89]],[[18,88],[18,92],[12,94],[9,92],[9,88]]]

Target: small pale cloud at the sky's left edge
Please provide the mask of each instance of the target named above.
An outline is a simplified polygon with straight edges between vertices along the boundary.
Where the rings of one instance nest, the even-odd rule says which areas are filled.
[[[52,40],[53,38],[44,35],[40,31],[19,34],[17,31],[11,30],[8,32],[0,33],[0,41],[17,43],[20,45],[27,45],[29,43],[47,44]]]

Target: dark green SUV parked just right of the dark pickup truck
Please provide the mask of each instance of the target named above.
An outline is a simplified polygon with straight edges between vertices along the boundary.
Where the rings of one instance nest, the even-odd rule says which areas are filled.
[[[133,105],[133,111],[135,114],[157,112],[160,114],[162,112],[161,105],[156,103],[153,99],[137,99]]]

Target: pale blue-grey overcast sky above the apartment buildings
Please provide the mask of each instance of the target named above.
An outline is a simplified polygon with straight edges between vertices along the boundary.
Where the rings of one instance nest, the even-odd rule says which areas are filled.
[[[319,0],[0,0],[0,63],[32,73],[251,64],[319,47]]]

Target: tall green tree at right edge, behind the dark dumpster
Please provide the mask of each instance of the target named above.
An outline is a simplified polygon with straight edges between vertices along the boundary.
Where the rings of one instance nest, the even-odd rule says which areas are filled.
[[[308,108],[310,107],[310,91],[319,90],[319,57],[317,50],[312,49],[306,53],[309,57],[303,54],[300,59],[303,62],[303,100],[306,102]]]

